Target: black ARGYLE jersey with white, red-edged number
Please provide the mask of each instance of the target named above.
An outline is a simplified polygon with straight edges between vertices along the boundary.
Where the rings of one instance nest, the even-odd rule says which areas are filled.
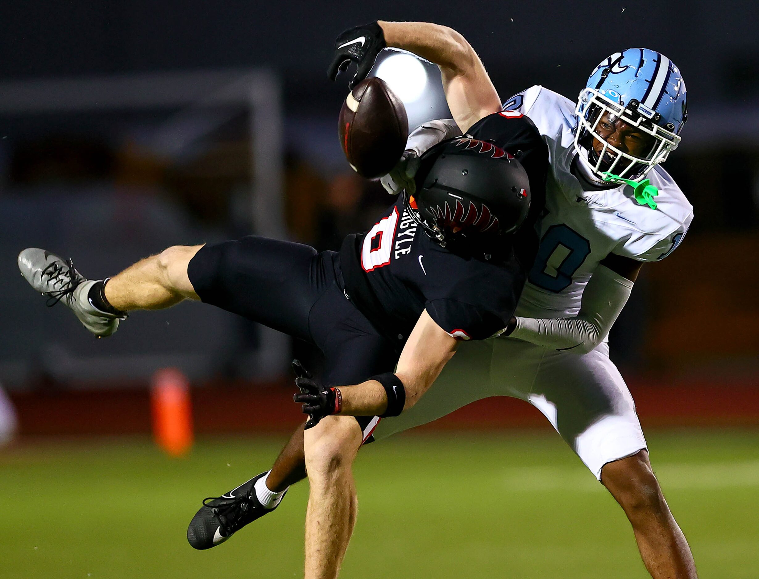
[[[511,115],[511,116],[509,116]],[[485,339],[505,328],[537,249],[534,221],[543,210],[548,151],[527,117],[504,112],[474,124],[471,137],[514,155],[530,178],[528,222],[497,259],[441,247],[417,227],[401,199],[340,250],[345,292],[385,335],[403,341],[422,311],[449,335]]]

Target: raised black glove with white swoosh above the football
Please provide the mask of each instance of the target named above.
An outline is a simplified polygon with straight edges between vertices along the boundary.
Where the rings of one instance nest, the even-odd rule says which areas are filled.
[[[348,70],[351,62],[355,62],[358,68],[348,83],[348,88],[352,89],[367,77],[377,55],[386,46],[385,35],[376,22],[348,28],[335,40],[335,55],[327,69],[327,78],[335,80],[340,72]]]

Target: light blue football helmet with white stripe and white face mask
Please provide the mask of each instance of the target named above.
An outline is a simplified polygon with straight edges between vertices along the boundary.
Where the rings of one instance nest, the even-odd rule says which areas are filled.
[[[649,49],[615,52],[587,79],[575,112],[578,116],[575,150],[586,168],[600,180],[607,173],[640,179],[680,143],[679,134],[688,119],[685,82],[679,69],[661,52]],[[598,134],[596,127],[606,112],[654,137],[645,156],[625,153]],[[592,146],[594,138],[603,143],[600,154]]]

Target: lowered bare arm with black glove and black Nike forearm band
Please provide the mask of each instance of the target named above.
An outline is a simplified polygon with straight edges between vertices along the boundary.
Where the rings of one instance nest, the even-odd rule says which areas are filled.
[[[306,428],[315,426],[329,414],[348,416],[398,416],[427,392],[456,351],[458,341],[438,326],[424,311],[408,337],[395,373],[373,376],[351,386],[327,388],[294,363],[301,389],[294,400],[303,404],[311,418]]]

